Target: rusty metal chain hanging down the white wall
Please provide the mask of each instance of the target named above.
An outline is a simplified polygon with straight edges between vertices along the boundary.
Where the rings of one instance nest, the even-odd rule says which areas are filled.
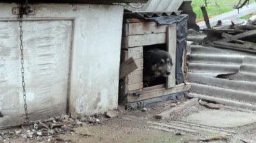
[[[25,118],[25,124],[29,124],[29,118],[28,118],[28,105],[26,103],[27,96],[26,96],[26,87],[25,87],[25,70],[24,70],[24,46],[23,46],[23,31],[22,31],[22,26],[23,26],[23,5],[20,7],[20,63],[22,64],[22,89],[23,89],[23,99],[24,99],[24,111],[26,114]]]

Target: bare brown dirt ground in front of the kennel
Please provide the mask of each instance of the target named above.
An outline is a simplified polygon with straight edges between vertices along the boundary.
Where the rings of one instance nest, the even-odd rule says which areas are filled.
[[[173,120],[180,120],[181,117],[191,113],[196,113],[206,109],[201,105],[194,105],[177,114],[171,115],[167,120],[156,120],[154,115],[170,109],[175,105],[184,102],[166,101],[152,107],[146,111],[135,110],[125,111],[119,107],[119,115],[115,118],[106,119],[100,124],[83,124],[78,128],[73,128],[71,132],[54,136],[38,136],[33,139],[25,139],[15,136],[5,142],[203,142],[203,139],[212,139],[207,142],[253,142],[256,140],[256,124],[250,124],[240,128],[232,128],[237,134],[230,136],[220,136],[220,134],[209,134],[207,132],[191,133],[181,130],[175,132],[165,132],[152,128],[148,122],[168,123]],[[222,138],[220,138],[222,137]],[[216,140],[214,140],[216,139]],[[2,140],[3,142],[3,140]]]

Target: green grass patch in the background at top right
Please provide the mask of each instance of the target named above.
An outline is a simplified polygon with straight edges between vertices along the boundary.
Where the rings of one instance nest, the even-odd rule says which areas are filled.
[[[238,3],[239,0],[207,0],[207,13],[209,17],[220,15],[228,11],[234,10],[232,7]],[[254,0],[251,0],[250,3],[254,3]],[[204,0],[192,0],[192,7],[194,12],[197,14],[197,19],[203,19],[203,14],[201,12],[200,6],[205,5]],[[248,18],[245,16],[243,18]]]

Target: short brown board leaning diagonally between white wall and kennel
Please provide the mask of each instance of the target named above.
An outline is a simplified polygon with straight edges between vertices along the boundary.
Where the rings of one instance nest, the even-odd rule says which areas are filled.
[[[133,72],[133,70],[137,69],[137,65],[135,63],[135,60],[133,58],[129,58],[128,60],[125,60],[120,65],[120,70],[119,70],[119,79],[122,79],[123,77],[129,75],[129,73]]]

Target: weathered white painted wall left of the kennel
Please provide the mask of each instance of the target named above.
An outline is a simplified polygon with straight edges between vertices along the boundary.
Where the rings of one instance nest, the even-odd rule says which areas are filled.
[[[24,117],[18,21],[15,21],[18,15],[11,14],[12,7],[17,5],[0,3],[0,55],[7,54],[0,56],[0,65],[4,66],[0,75],[8,75],[7,79],[0,79],[0,109],[4,114],[0,117],[0,127],[20,124]],[[36,15],[25,17],[24,22],[28,111],[32,120],[65,113],[68,98],[73,117],[117,107],[123,7],[46,4],[32,7]],[[5,37],[7,41],[1,38],[3,31],[9,34]],[[11,54],[6,52],[8,49]],[[49,59],[51,56],[53,59]],[[53,66],[45,66],[47,63]]]

